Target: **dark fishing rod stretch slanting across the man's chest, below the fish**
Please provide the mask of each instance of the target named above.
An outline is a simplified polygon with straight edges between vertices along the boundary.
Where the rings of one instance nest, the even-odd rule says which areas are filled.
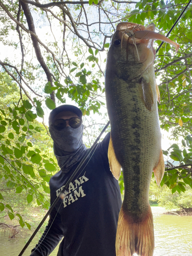
[[[57,196],[57,198],[55,199],[55,201],[53,202],[53,204],[50,206],[47,214],[44,216],[44,218],[41,220],[41,222],[39,223],[39,225],[37,226],[37,228],[35,229],[35,231],[33,232],[32,236],[30,237],[30,239],[28,240],[28,242],[26,243],[26,245],[24,246],[24,248],[22,249],[22,251],[18,254],[18,256],[22,256],[23,253],[25,252],[25,250],[27,249],[27,247],[29,246],[29,244],[31,243],[31,241],[33,240],[33,238],[35,237],[36,233],[38,232],[38,230],[40,229],[40,227],[42,226],[42,224],[44,224],[44,222],[46,221],[47,217],[50,215],[51,211],[53,210],[53,208],[55,207],[56,203],[59,201],[61,194],[63,194],[63,192],[65,190],[68,189],[68,186],[70,184],[70,182],[72,182],[72,180],[74,179],[75,175],[78,173],[79,169],[82,167],[82,165],[84,163],[86,163],[86,160],[88,159],[88,157],[91,155],[91,152],[94,150],[95,145],[97,144],[97,142],[99,141],[100,137],[102,136],[102,134],[104,133],[104,131],[106,130],[106,128],[109,126],[110,121],[108,121],[108,123],[104,126],[103,130],[101,131],[101,133],[99,134],[99,136],[97,137],[97,139],[95,140],[95,142],[93,143],[93,145],[90,147],[90,149],[87,151],[86,155],[84,155],[83,159],[80,161],[79,165],[77,166],[77,168],[74,170],[73,174],[71,175],[71,177],[69,178],[69,180],[67,181],[66,185],[63,187],[63,189],[61,190],[61,192],[59,193],[59,195]],[[92,154],[93,156],[93,154]],[[92,157],[91,156],[91,157]]]

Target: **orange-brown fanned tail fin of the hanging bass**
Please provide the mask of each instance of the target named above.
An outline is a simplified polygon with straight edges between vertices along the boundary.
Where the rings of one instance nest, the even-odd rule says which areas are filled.
[[[116,256],[153,256],[153,215],[149,205],[146,217],[140,222],[126,214],[121,207],[116,234]]]

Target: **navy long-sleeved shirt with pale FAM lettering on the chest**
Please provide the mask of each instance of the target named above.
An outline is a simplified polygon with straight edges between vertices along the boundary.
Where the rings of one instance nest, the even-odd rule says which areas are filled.
[[[109,139],[110,134],[97,144],[89,162],[70,183],[65,198],[60,199],[51,212],[49,223],[39,240],[41,244],[31,256],[49,255],[62,237],[58,256],[116,255],[121,195],[118,181],[109,167]],[[75,168],[67,174],[60,170],[50,179],[51,204]]]

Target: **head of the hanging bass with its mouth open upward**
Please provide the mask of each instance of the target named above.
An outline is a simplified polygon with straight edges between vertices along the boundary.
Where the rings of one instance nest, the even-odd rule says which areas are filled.
[[[125,64],[139,64],[143,63],[147,56],[149,49],[153,52],[153,61],[155,60],[155,49],[153,47],[153,38],[136,38],[135,35],[140,31],[150,33],[155,30],[155,25],[152,23],[146,28],[131,22],[122,22],[117,25],[116,31],[112,37],[111,45],[108,53],[108,60],[110,68],[115,62],[116,65]],[[140,34],[139,34],[140,35]]]

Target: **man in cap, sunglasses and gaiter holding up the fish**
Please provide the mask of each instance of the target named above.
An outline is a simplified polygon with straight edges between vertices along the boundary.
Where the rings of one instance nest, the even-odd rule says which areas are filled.
[[[50,179],[51,204],[87,152],[82,142],[82,112],[61,105],[50,113],[49,131],[60,171]],[[121,195],[108,162],[110,134],[98,143],[50,214],[49,223],[30,256],[115,256]]]

